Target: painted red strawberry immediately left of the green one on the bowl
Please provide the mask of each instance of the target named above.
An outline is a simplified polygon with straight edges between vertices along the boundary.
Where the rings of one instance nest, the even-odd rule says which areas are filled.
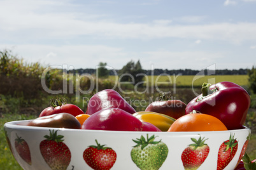
[[[92,169],[111,169],[117,160],[115,150],[110,147],[105,147],[105,145],[100,145],[97,140],[95,141],[97,145],[90,145],[85,149],[83,159]]]

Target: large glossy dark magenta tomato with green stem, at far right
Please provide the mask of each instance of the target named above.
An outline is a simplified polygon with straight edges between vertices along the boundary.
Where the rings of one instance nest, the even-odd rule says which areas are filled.
[[[186,114],[192,110],[213,115],[222,121],[227,129],[241,129],[250,107],[247,91],[233,82],[204,83],[202,94],[191,100]]]

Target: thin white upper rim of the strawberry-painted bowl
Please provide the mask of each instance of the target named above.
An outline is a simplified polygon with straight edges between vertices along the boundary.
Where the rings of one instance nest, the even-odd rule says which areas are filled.
[[[39,126],[26,126],[22,125],[22,123],[29,122],[31,120],[24,120],[24,121],[10,121],[4,124],[4,128],[10,129],[20,129],[20,130],[30,130],[30,131],[37,131],[37,130],[59,130],[59,131],[75,131],[80,133],[90,132],[90,133],[132,133],[132,134],[139,134],[139,133],[157,133],[157,134],[205,134],[205,133],[238,133],[240,131],[251,131],[250,128],[243,126],[241,129],[232,129],[227,131],[177,131],[177,132],[167,132],[167,131],[108,131],[108,130],[93,130],[93,129],[68,129],[68,128],[48,128],[48,127],[39,127]]]

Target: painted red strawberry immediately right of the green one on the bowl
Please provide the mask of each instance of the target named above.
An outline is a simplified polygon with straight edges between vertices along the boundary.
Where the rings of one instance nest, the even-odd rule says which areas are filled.
[[[195,138],[191,138],[191,140],[194,143],[188,145],[181,154],[181,160],[185,170],[196,170],[201,166],[201,164],[203,164],[210,152],[210,148],[206,143],[204,143],[207,139],[204,140],[204,138],[202,139],[200,136],[198,140]]]

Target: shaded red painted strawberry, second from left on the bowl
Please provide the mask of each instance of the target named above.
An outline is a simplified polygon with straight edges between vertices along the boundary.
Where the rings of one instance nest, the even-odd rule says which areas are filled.
[[[71,161],[71,152],[63,143],[64,136],[57,135],[57,131],[49,130],[50,136],[45,135],[46,140],[40,143],[40,152],[45,162],[51,169],[67,169]]]

